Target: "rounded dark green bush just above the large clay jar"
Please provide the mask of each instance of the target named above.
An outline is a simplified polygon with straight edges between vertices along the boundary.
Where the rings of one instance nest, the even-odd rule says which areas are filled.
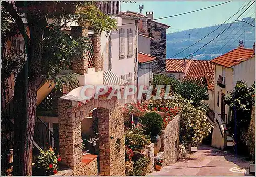
[[[139,122],[145,126],[146,132],[151,136],[157,135],[163,127],[163,118],[156,112],[149,112],[139,117]]]

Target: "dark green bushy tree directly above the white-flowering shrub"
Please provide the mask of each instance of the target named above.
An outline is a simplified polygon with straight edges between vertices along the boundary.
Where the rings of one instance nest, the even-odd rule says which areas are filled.
[[[206,86],[201,86],[189,80],[180,83],[177,93],[183,98],[190,100],[195,107],[197,107],[202,100],[205,100],[208,95]]]

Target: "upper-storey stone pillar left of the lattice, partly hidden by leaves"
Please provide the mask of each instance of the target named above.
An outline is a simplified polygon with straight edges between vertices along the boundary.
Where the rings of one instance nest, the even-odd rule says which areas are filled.
[[[86,27],[71,27],[71,35],[73,38],[87,37]],[[82,56],[75,56],[72,58],[72,69],[75,73],[84,75],[88,73],[88,54],[86,51],[83,52]]]

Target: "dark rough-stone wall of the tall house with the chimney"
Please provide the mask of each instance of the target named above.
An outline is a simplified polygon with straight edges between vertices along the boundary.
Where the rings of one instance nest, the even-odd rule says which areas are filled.
[[[153,62],[153,73],[165,72],[166,60],[166,29],[163,24],[148,21],[148,35],[153,37],[151,40],[151,56],[156,57]]]

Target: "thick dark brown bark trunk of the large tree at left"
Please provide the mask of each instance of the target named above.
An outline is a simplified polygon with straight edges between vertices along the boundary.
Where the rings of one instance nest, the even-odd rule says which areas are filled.
[[[30,21],[27,18],[28,22]],[[44,23],[42,23],[44,24]],[[30,24],[30,44],[27,61],[15,82],[14,164],[13,175],[32,175],[32,149],[36,119],[37,83],[42,77],[43,28]]]

